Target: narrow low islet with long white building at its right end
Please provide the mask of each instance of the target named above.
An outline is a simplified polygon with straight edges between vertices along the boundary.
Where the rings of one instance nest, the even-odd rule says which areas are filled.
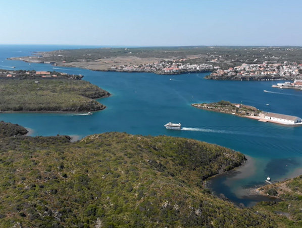
[[[269,104],[268,104],[269,105]],[[272,112],[264,112],[253,106],[233,104],[229,101],[219,101],[214,103],[191,104],[191,106],[214,111],[233,114],[241,117],[257,119],[261,122],[272,122],[283,125],[302,125],[301,118],[297,116],[283,115]]]

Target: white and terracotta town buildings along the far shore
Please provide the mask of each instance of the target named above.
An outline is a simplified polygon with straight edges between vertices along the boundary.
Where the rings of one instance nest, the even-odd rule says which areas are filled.
[[[209,62],[215,62],[215,59]],[[190,64],[186,59],[163,60],[158,63],[141,65],[112,66],[111,71],[126,72],[154,72],[158,74],[180,74],[190,72],[212,71],[207,79],[223,80],[296,80],[302,79],[302,64],[296,62],[272,63],[267,61],[262,64],[243,63],[239,66],[223,69],[212,64]],[[227,78],[226,78],[227,77]]]

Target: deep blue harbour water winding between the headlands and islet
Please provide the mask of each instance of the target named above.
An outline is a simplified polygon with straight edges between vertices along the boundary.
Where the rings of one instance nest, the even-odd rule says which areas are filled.
[[[87,46],[83,46],[87,48]],[[54,70],[49,64],[6,60],[27,56],[32,51],[73,49],[81,46],[0,45],[0,68]],[[3,61],[3,62],[2,62]],[[205,80],[205,73],[157,75],[153,73],[99,72],[56,67],[57,71],[83,74],[84,80],[109,91],[99,99],[107,108],[93,115],[0,113],[0,120],[18,123],[34,130],[32,135],[89,134],[120,131],[142,135],[171,135],[194,138],[227,146],[251,157],[250,170],[213,178],[209,186],[234,202],[249,205],[262,199],[246,198],[242,188],[299,175],[302,168],[302,126],[290,127],[233,115],[199,110],[191,103],[227,100],[256,106],[265,111],[302,116],[302,91],[280,90],[276,82],[235,82]],[[272,93],[264,93],[267,90]],[[1,99],[1,98],[0,98]],[[266,104],[269,104],[266,105]],[[167,130],[167,122],[181,122],[187,130]],[[253,172],[252,172],[253,170]],[[247,173],[244,178],[240,174]],[[301,173],[302,174],[302,173]],[[246,177],[247,176],[247,177]],[[240,196],[239,196],[240,195]]]

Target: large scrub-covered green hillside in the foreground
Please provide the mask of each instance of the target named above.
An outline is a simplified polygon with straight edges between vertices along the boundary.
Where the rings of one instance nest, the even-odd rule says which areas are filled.
[[[245,160],[218,145],[126,133],[0,143],[0,227],[285,227],[203,187]]]

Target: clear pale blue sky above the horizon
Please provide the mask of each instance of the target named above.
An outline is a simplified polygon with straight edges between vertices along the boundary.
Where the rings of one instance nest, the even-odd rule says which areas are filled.
[[[1,44],[302,45],[301,0],[9,0]]]

